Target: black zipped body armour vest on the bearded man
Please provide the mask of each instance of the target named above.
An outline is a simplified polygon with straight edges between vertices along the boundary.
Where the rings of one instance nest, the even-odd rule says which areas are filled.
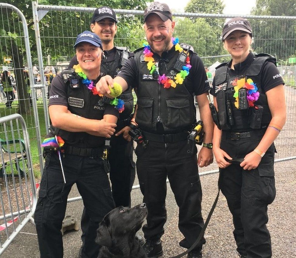
[[[191,56],[193,52],[189,53]],[[179,52],[174,51],[170,60],[158,60],[161,75],[165,74],[168,78],[175,80],[176,72],[172,67],[176,63],[178,55]],[[136,123],[140,129],[156,132],[159,131],[158,123],[161,123],[165,133],[189,130],[196,121],[196,109],[193,94],[190,94],[186,88],[187,77],[183,84],[177,84],[176,88],[164,88],[162,84],[157,82],[158,75],[153,78],[153,75],[150,74],[147,62],[144,61],[143,48],[136,50],[135,58],[139,67]],[[155,56],[154,58],[156,60]]]

